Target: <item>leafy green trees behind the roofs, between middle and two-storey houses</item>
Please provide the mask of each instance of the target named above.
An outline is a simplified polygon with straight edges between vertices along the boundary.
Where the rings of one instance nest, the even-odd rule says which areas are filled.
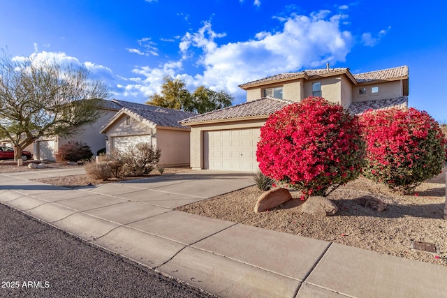
[[[229,107],[233,103],[233,96],[228,91],[214,91],[205,86],[198,87],[193,94],[186,89],[184,80],[163,77],[161,94],[149,96],[148,105],[169,107],[187,112],[205,113]]]

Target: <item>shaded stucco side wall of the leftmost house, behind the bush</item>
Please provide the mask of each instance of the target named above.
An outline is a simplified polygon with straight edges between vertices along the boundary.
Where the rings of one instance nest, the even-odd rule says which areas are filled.
[[[72,135],[69,137],[59,137],[58,146],[56,147],[54,153],[57,153],[57,149],[62,145],[66,144],[69,141],[75,142],[85,142],[90,148],[91,152],[93,152],[94,156],[96,156],[96,152],[99,149],[103,149],[105,147],[105,135],[99,133],[101,127],[103,127],[109,120],[112,118],[117,112],[106,110],[103,112],[101,117],[92,125],[82,126],[82,130],[80,133],[76,135]]]

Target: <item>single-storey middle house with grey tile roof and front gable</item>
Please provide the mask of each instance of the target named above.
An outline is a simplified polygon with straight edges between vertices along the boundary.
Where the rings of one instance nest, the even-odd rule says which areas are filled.
[[[100,130],[109,153],[139,142],[148,142],[161,150],[159,165],[189,165],[189,127],[179,121],[196,116],[191,112],[114,100],[122,106]]]

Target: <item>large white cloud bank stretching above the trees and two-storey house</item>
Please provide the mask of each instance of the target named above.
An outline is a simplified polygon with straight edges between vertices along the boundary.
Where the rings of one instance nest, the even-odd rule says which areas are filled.
[[[136,91],[149,96],[160,91],[163,76],[180,77],[192,91],[199,85],[212,89],[227,89],[240,103],[245,91],[239,84],[302,68],[325,67],[345,61],[351,50],[351,32],[340,28],[347,15],[333,15],[321,10],[307,15],[281,17],[280,29],[254,33],[254,38],[219,44],[226,33],[212,30],[210,21],[196,32],[186,32],[179,42],[180,61],[171,61],[152,68],[135,67],[136,77],[129,80],[123,95]],[[184,64],[200,66],[195,75],[186,75]]]

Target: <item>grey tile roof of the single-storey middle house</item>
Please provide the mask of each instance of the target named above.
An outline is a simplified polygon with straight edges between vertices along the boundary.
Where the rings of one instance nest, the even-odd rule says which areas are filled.
[[[143,103],[131,103],[125,100],[112,100],[121,105],[124,111],[138,115],[140,118],[150,121],[159,126],[184,128],[179,121],[188,117],[196,116],[196,113],[184,112],[166,107],[157,107],[155,105],[146,105]]]

